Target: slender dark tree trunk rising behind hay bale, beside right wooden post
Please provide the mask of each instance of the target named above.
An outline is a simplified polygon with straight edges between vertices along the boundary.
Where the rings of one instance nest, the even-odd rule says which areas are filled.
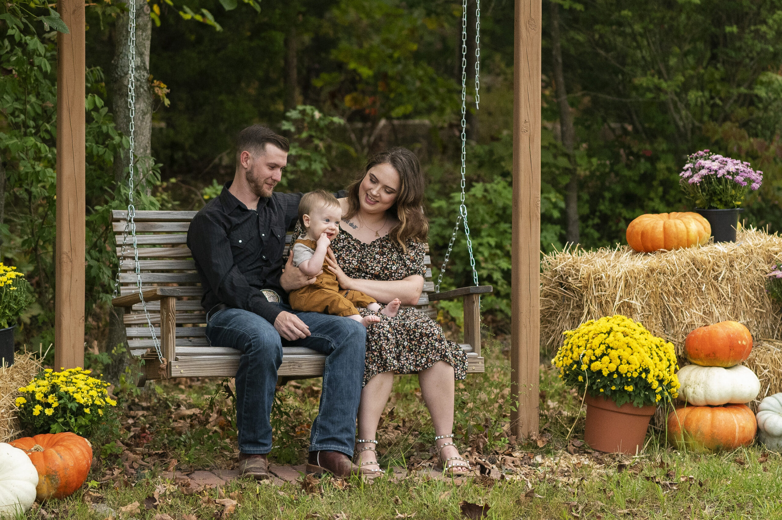
[[[559,128],[562,136],[562,146],[570,158],[570,180],[565,193],[565,215],[567,227],[565,240],[571,244],[579,242],[579,180],[576,169],[576,155],[573,148],[576,144],[576,129],[573,127],[573,116],[568,103],[568,91],[565,88],[565,73],[562,70],[562,47],[559,34],[559,5],[551,2],[551,53],[554,62],[554,82],[557,87],[557,104],[559,106]]]

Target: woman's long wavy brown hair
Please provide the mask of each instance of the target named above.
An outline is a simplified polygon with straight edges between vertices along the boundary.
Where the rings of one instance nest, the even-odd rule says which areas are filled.
[[[424,176],[418,157],[407,148],[389,148],[373,155],[364,173],[347,187],[348,212],[343,218],[350,219],[361,208],[358,200],[358,188],[370,169],[380,164],[389,164],[399,173],[400,187],[396,193],[396,202],[387,212],[396,216],[399,224],[389,231],[392,240],[407,252],[407,240],[425,242],[429,236],[429,221],[424,215]]]

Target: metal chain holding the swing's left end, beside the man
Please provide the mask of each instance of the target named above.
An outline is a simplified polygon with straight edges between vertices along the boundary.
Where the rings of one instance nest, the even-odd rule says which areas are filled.
[[[131,0],[127,2],[128,6],[128,22],[127,22],[127,108],[130,111],[130,125],[128,128],[128,138],[130,141],[130,148],[128,149],[128,155],[130,157],[127,175],[128,186],[128,203],[127,203],[127,218],[125,219],[125,228],[122,233],[122,250],[120,252],[120,267],[117,270],[117,279],[114,280],[114,297],[117,297],[117,291],[120,289],[120,272],[122,272],[122,264],[125,258],[125,250],[127,246],[127,234],[128,230],[133,237],[133,258],[135,262],[136,272],[136,287],[138,287],[138,297],[141,300],[144,307],[144,315],[147,320],[147,326],[149,326],[149,332],[152,334],[152,344],[155,345],[155,352],[157,358],[160,361],[161,372],[166,369],[167,362],[163,358],[163,353],[160,351],[160,341],[155,334],[155,326],[152,325],[152,318],[149,315],[149,310],[146,307],[146,301],[144,301],[144,293],[142,292],[142,272],[141,265],[138,263],[138,244],[136,241],[136,208],[133,205],[133,191],[135,189],[133,185],[133,176],[135,174],[134,158],[135,158],[135,115],[136,115],[136,91],[135,91],[135,64],[136,64],[136,2]]]

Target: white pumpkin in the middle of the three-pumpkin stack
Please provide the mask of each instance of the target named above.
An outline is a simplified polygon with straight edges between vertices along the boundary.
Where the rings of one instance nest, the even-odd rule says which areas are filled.
[[[679,397],[694,406],[748,403],[760,394],[760,380],[744,365],[683,366],[679,372]]]

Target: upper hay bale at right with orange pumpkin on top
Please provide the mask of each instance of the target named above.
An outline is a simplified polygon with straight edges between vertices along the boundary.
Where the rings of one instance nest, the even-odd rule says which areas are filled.
[[[782,237],[755,229],[740,230],[736,243],[651,254],[617,246],[546,255],[540,344],[554,351],[565,330],[614,314],[672,341],[680,357],[693,329],[726,319],[743,323],[755,338],[782,340],[780,310],[766,294],[766,273],[780,261]]]

